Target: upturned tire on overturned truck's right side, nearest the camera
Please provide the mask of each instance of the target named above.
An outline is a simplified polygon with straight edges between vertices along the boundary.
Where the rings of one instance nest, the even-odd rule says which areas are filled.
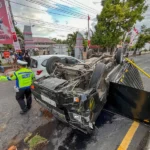
[[[99,87],[99,84],[104,75],[105,69],[106,69],[106,65],[103,63],[99,63],[96,65],[93,71],[90,83],[89,83],[89,88],[97,89]]]

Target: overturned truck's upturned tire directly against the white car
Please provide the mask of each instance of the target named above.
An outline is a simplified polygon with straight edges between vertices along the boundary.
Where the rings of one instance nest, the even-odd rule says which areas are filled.
[[[56,62],[61,62],[61,59],[57,56],[53,56],[48,59],[47,64],[46,64],[46,70],[48,74],[53,73]]]

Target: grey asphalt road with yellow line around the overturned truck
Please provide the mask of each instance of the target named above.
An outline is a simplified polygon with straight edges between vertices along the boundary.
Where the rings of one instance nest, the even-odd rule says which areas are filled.
[[[134,60],[150,73],[149,58],[150,54],[136,57]],[[150,91],[150,80],[143,75],[142,77],[145,89]],[[148,127],[140,124],[134,131],[134,121],[106,111],[97,119],[96,129],[92,135],[73,130],[56,120],[48,122],[39,117],[39,106],[35,102],[31,112],[22,117],[18,114],[19,106],[15,101],[12,87],[13,83],[0,83],[0,150],[11,141],[11,138],[21,139],[27,132],[34,131],[42,124],[43,126],[37,128],[34,133],[46,137],[49,143],[40,150],[146,150],[149,139]],[[133,136],[131,131],[134,131]],[[124,142],[129,145],[126,149],[121,149],[119,146]],[[18,147],[19,150],[23,148],[22,144]]]

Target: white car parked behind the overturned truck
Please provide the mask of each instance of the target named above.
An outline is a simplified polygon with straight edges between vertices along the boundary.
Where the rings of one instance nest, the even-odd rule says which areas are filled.
[[[46,63],[47,60],[51,57],[57,56],[61,59],[63,64],[78,64],[82,63],[81,60],[78,60],[74,57],[67,56],[67,55],[41,55],[41,56],[31,56],[31,69],[35,73],[35,78],[39,79],[43,76],[49,76],[46,71]]]

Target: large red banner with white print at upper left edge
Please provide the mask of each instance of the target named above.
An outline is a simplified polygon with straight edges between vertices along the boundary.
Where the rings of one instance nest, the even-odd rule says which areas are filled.
[[[0,44],[13,44],[5,0],[0,0]]]

